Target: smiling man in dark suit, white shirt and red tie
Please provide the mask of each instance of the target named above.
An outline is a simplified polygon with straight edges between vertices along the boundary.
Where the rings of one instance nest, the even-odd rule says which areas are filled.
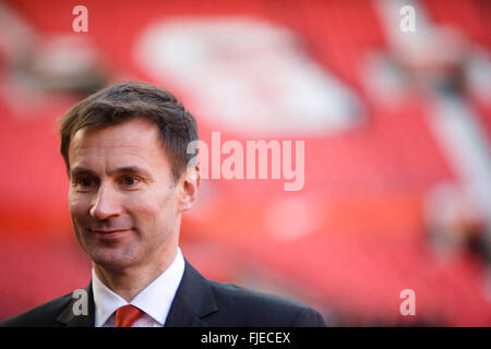
[[[87,311],[69,293],[2,326],[325,326],[306,305],[207,280],[182,256],[181,215],[200,186],[187,153],[197,130],[169,92],[105,88],[63,116],[60,135],[73,230],[93,261]]]

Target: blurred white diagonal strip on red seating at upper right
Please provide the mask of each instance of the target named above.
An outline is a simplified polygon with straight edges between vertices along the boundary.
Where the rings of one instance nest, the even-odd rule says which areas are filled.
[[[483,219],[491,226],[491,144],[469,98],[469,92],[476,91],[481,100],[491,98],[489,55],[479,44],[466,38],[458,27],[433,23],[424,1],[378,0],[374,4],[390,50],[398,57],[398,61],[391,63],[391,69],[403,72],[397,79],[399,91],[412,94],[410,89],[414,89],[423,94],[431,132],[462,188],[478,203]],[[404,8],[415,9],[418,35],[400,31],[402,13],[398,12]],[[370,76],[383,76],[383,73],[375,71]],[[450,93],[448,87],[458,86],[452,81],[463,84],[460,91]],[[445,84],[446,88],[442,88]],[[376,85],[382,87],[378,95],[394,98],[392,86]]]

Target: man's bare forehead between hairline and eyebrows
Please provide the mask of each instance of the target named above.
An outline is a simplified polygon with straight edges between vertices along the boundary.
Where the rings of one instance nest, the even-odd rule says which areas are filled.
[[[122,166],[168,167],[158,128],[141,118],[101,129],[81,129],[69,146],[70,167],[110,169]]]

